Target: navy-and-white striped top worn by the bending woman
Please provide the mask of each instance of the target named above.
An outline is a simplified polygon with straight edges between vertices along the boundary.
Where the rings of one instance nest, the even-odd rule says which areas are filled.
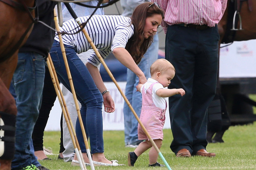
[[[79,17],[82,23],[85,23],[89,16]],[[68,33],[75,33],[79,30],[77,22],[74,19],[63,23],[60,31]],[[93,15],[85,26],[86,32],[89,34],[91,40],[95,44],[98,52],[105,59],[113,49],[122,47],[125,48],[126,43],[134,33],[134,26],[131,25],[129,17],[121,15]],[[59,41],[58,36],[55,40]],[[82,31],[77,34],[65,34],[62,36],[63,43],[73,46],[77,53],[85,52],[92,49]],[[93,52],[88,58],[89,63],[98,66],[100,61]]]

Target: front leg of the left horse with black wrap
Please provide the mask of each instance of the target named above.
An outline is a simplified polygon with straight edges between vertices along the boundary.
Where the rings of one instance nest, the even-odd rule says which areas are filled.
[[[18,51],[0,63],[0,169],[10,170],[15,152],[15,123],[17,108],[8,88],[17,66]]]

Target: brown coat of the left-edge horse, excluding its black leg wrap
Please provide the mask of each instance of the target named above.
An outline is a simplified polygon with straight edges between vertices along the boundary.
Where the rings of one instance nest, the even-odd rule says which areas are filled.
[[[21,2],[23,0],[14,0]],[[27,7],[34,7],[34,0],[24,0]],[[34,17],[35,11],[31,11]],[[0,111],[16,115],[17,109],[13,96],[9,93],[9,86],[17,66],[18,49],[26,42],[32,31],[25,35],[22,43],[16,46],[27,28],[33,21],[23,10],[14,8],[0,1]],[[9,56],[8,58],[6,58]],[[0,115],[1,117],[1,115]],[[0,159],[0,169],[9,170],[11,160]]]

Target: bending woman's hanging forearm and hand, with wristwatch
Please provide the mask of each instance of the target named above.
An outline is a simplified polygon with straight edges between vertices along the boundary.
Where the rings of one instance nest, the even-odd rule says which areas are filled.
[[[95,67],[89,62],[86,63],[86,67],[89,70],[91,77],[93,77],[94,83],[99,91],[102,93],[107,90],[101,78],[101,74],[99,73],[98,67]],[[115,111],[115,103],[109,92],[103,94],[103,105],[105,112],[111,113]]]

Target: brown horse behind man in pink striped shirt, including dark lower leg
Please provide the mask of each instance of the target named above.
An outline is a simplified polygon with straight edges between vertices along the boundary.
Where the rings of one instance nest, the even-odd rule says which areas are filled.
[[[229,44],[233,41],[256,39],[256,28],[252,23],[256,23],[255,1],[227,0],[226,10],[222,19],[218,23],[218,32],[220,35],[219,48],[221,44]],[[219,57],[221,56],[219,55]],[[227,107],[226,102],[229,101],[226,101],[223,97],[218,69],[216,96],[208,108],[208,142],[224,142],[222,136],[225,130],[227,130],[231,125],[227,112],[232,112],[232,109]],[[215,110],[215,117],[213,118],[215,120],[213,121],[209,121],[210,109]],[[215,133],[216,135],[212,139]]]

